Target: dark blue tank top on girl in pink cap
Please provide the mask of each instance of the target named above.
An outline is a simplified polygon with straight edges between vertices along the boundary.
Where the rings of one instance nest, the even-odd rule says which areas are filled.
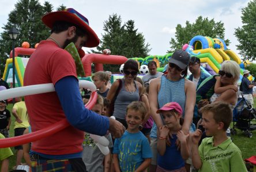
[[[157,155],[157,164],[165,170],[177,170],[185,166],[185,161],[180,154],[180,150],[177,150],[175,144],[177,136],[173,134],[173,139],[170,138],[171,146],[166,146],[166,150],[163,156]]]

